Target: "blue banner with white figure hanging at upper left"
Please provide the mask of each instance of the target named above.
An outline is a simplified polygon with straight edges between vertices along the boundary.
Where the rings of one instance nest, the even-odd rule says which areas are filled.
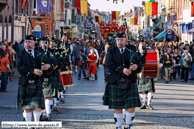
[[[51,0],[37,0],[37,14],[51,15]]]

